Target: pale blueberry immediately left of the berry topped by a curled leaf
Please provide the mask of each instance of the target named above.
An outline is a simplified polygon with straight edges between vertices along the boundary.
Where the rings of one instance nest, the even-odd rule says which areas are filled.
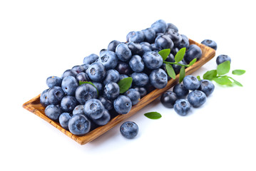
[[[67,95],[75,95],[78,86],[78,81],[73,76],[66,76],[61,82],[61,88]]]

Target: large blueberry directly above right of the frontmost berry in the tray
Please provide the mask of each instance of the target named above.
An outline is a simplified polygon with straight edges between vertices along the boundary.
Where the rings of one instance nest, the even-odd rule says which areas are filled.
[[[91,119],[98,119],[101,118],[104,111],[104,106],[100,100],[96,98],[91,98],[90,100],[86,101],[84,105],[83,112]]]

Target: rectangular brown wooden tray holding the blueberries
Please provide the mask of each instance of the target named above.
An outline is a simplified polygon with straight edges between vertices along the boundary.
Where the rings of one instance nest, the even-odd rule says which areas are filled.
[[[189,75],[194,71],[197,71],[198,68],[203,66],[205,63],[210,61],[210,59],[212,59],[215,56],[215,50],[213,48],[204,46],[203,44],[197,43],[191,39],[190,39],[190,44],[198,45],[202,49],[203,55],[199,61],[193,64],[193,66],[190,66],[185,69],[186,75]],[[68,130],[63,129],[59,123],[56,123],[55,121],[48,118],[44,113],[45,108],[40,104],[40,94],[37,95],[35,98],[32,98],[28,102],[24,103],[23,108],[25,108],[26,110],[29,110],[31,113],[38,115],[43,120],[46,120],[48,123],[56,127],[58,130],[61,130],[62,133],[66,134],[68,137],[72,138],[73,140],[78,142],[80,145],[84,145],[87,142],[91,142],[92,140],[102,135],[103,133],[106,133],[108,130],[113,128],[118,123],[121,123],[123,120],[126,120],[127,118],[129,118],[131,115],[134,115],[135,113],[138,112],[138,110],[145,107],[145,105],[148,105],[148,103],[151,103],[153,100],[158,98],[166,90],[175,86],[175,84],[177,84],[179,81],[179,76],[180,75],[178,74],[175,77],[175,79],[170,79],[170,81],[168,81],[168,84],[167,86],[165,86],[165,88],[155,89],[152,92],[148,93],[148,95],[145,95],[145,97],[140,99],[139,103],[137,103],[136,105],[133,105],[129,113],[125,115],[117,115],[115,118],[112,118],[106,125],[103,125],[94,130],[91,130],[91,132],[83,136],[73,135]]]

